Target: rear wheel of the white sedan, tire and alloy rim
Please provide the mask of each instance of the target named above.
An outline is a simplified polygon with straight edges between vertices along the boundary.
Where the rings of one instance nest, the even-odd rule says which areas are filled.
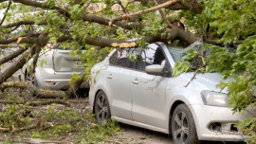
[[[100,91],[94,102],[94,112],[97,122],[102,124],[104,121],[108,121],[111,117],[110,106],[103,91]]]

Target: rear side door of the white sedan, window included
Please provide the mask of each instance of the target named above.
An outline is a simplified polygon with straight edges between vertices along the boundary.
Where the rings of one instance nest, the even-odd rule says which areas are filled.
[[[136,75],[137,63],[130,59],[135,57],[136,52],[136,48],[117,50],[109,60],[110,65],[106,69],[106,85],[112,117],[133,120],[131,83]]]

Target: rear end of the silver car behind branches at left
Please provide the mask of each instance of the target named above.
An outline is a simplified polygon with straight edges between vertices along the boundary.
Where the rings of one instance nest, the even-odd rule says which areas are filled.
[[[70,56],[70,51],[68,49],[47,49],[41,52],[35,72],[35,79],[40,87],[67,89],[72,74],[81,74],[84,71],[79,58]],[[42,61],[44,61],[43,66],[40,65]],[[82,82],[81,87],[89,87],[88,81]]]

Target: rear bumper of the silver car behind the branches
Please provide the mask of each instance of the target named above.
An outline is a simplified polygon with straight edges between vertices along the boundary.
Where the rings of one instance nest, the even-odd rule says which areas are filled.
[[[49,88],[53,90],[64,90],[69,87],[69,81],[72,78],[73,72],[56,72],[53,68],[37,67],[36,68],[36,81],[42,88]],[[77,74],[80,74],[77,72]],[[81,88],[89,88],[89,82],[82,82]]]

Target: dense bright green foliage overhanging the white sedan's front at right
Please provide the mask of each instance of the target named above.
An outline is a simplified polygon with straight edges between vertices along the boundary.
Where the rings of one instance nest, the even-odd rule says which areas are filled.
[[[224,45],[205,45],[210,49],[206,58],[206,71],[219,72],[223,78],[233,81],[222,82],[218,86],[228,88],[229,107],[233,112],[246,113],[256,106],[256,2],[249,0],[204,1],[205,9],[200,14],[182,11],[186,21],[203,37],[209,28],[210,37],[216,37]],[[201,23],[199,23],[201,22]],[[196,24],[196,25],[194,25]],[[238,40],[240,45],[231,45]],[[187,63],[187,62],[185,62]],[[184,67],[188,67],[186,64]],[[179,65],[177,65],[179,67]],[[187,68],[188,70],[188,68]],[[245,134],[252,135],[248,143],[255,143],[255,116],[241,119],[237,125]]]

